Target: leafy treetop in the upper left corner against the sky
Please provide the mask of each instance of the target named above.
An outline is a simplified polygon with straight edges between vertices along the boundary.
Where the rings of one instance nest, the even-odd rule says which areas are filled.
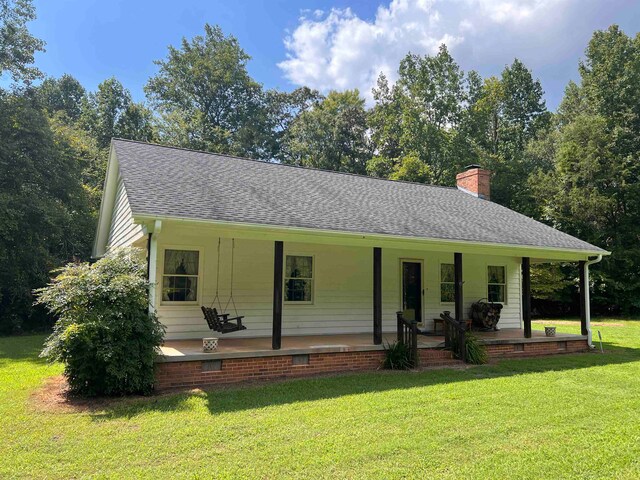
[[[35,53],[44,51],[44,42],[27,28],[35,18],[31,0],[0,0],[0,76],[9,72],[15,82],[25,83],[41,76],[32,64]]]

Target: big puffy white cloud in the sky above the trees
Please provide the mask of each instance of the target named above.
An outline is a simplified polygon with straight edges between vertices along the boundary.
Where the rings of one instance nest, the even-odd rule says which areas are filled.
[[[394,80],[408,52],[433,54],[442,43],[465,68],[478,68],[473,60],[479,58],[504,65],[526,57],[532,46],[549,55],[556,38],[545,34],[564,31],[568,7],[576,2],[393,0],[379,6],[373,19],[350,8],[303,12],[284,40],[287,58],[278,66],[295,85],[325,92],[358,88],[370,101],[380,72]]]

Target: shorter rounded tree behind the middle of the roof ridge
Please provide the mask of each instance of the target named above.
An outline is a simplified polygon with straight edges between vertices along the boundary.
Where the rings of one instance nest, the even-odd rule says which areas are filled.
[[[292,123],[290,163],[339,172],[366,173],[371,157],[364,99],[358,90],[329,92]]]

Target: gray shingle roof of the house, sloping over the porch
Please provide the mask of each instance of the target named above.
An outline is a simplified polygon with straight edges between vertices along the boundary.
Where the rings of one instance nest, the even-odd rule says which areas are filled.
[[[456,188],[114,140],[135,215],[604,252]]]

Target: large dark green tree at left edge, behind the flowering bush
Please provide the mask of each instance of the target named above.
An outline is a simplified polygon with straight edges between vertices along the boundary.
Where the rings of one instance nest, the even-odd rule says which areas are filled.
[[[82,165],[67,155],[31,89],[0,91],[0,331],[41,326],[35,287],[63,261],[87,257],[94,224]]]

